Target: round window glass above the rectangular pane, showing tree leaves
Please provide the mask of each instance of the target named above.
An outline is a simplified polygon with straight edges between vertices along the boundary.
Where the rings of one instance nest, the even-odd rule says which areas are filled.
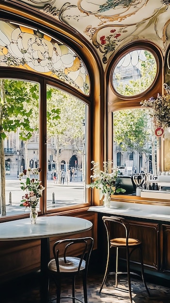
[[[157,64],[154,55],[144,49],[127,53],[114,68],[112,83],[117,93],[135,96],[146,91],[154,82]]]

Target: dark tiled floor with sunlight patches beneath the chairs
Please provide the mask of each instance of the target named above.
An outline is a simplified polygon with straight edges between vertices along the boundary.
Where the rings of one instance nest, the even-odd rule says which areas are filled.
[[[88,303],[129,303],[128,286],[126,277],[123,276],[118,288],[114,288],[113,277],[109,277],[102,292],[98,290],[101,286],[103,275],[88,274]],[[132,296],[134,303],[170,303],[170,288],[147,283],[151,293],[148,297],[142,281],[132,279]],[[55,303],[55,284],[50,282],[49,303]],[[83,301],[81,281],[76,284],[77,298]],[[62,295],[71,296],[71,287],[67,281],[62,288]],[[34,273],[13,282],[8,282],[0,288],[0,303],[40,303],[39,274]],[[62,299],[61,303],[72,303],[71,299]],[[76,301],[78,303],[78,301]]]

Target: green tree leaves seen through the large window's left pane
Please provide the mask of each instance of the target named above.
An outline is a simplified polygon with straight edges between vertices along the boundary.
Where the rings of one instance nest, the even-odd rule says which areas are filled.
[[[23,140],[30,138],[35,129],[35,125],[31,127],[31,121],[35,121],[33,105],[39,99],[37,89],[37,84],[30,82],[1,80],[1,90],[4,91],[4,95],[0,99],[0,136],[3,139],[7,132],[16,132],[18,128]],[[25,136],[24,132],[26,132]]]

